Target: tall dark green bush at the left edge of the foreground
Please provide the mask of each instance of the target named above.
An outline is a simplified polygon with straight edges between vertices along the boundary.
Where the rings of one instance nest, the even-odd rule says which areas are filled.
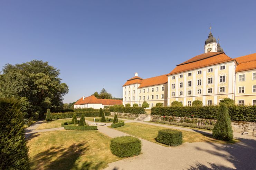
[[[30,170],[19,102],[0,98],[0,169]]]

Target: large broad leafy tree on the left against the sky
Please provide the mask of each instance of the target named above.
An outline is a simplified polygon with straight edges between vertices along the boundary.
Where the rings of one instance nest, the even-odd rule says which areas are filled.
[[[57,68],[38,60],[6,64],[0,73],[0,97],[26,97],[29,106],[25,109],[25,117],[32,117],[38,112],[39,117],[44,118],[47,108],[63,107],[63,97],[68,93],[68,86],[61,83],[59,74]]]

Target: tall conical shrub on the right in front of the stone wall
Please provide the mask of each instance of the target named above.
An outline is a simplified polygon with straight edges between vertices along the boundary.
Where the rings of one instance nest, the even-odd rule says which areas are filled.
[[[228,108],[225,104],[220,104],[220,112],[217,117],[217,122],[212,129],[212,135],[215,139],[229,141],[233,139],[233,130],[231,120],[228,114]]]

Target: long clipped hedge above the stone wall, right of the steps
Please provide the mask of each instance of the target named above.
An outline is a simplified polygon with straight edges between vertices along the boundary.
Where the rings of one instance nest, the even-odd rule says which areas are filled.
[[[202,107],[153,107],[151,115],[217,119],[220,106]],[[228,113],[234,121],[256,122],[256,106],[228,106]]]

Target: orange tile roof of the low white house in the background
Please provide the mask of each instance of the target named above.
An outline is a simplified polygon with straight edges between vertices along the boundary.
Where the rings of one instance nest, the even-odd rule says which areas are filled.
[[[84,104],[102,104],[102,105],[122,105],[122,100],[114,100],[114,99],[99,99],[94,95],[80,98],[74,105],[84,105]]]

